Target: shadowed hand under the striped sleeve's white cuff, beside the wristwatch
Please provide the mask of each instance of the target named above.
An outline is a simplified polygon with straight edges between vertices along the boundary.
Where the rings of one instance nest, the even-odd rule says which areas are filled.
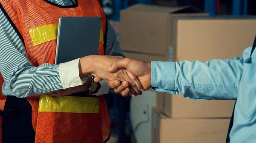
[[[86,83],[84,83],[80,86],[70,87],[65,90],[58,90],[56,92],[48,93],[48,94],[51,96],[55,96],[55,97],[61,97],[61,96],[72,95],[73,93],[78,93],[81,91],[87,91],[91,80],[92,80],[91,76],[88,76]]]

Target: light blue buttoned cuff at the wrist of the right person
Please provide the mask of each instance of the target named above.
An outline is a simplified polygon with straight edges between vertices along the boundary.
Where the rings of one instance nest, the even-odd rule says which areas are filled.
[[[151,62],[153,89],[175,90],[175,62]]]

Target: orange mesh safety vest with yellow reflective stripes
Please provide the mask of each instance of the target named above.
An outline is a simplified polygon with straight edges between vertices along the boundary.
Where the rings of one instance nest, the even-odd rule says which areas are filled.
[[[101,17],[99,55],[104,55],[106,18],[98,0],[77,0],[76,6],[56,6],[44,0],[1,0],[17,28],[34,66],[54,64],[60,17]],[[2,83],[0,83],[2,85]],[[49,95],[27,98],[32,106],[35,143],[103,143],[110,136],[105,97]]]

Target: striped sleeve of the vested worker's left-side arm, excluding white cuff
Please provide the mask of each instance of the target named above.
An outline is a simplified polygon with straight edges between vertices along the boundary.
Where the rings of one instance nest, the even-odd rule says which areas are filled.
[[[58,66],[43,64],[34,67],[22,40],[0,11],[0,73],[5,82],[4,95],[27,97],[62,88]]]

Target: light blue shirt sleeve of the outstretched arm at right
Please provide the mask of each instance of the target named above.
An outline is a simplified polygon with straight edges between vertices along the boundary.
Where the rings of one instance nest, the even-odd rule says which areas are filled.
[[[241,58],[213,59],[207,62],[151,62],[151,85],[158,92],[183,94],[195,100],[234,100],[243,73]]]

